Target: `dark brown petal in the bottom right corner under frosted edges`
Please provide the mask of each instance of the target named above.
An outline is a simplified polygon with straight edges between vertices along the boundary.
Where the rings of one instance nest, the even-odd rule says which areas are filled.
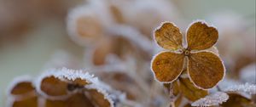
[[[230,99],[221,104],[222,107],[255,107],[251,99],[247,99],[237,93],[228,93]]]

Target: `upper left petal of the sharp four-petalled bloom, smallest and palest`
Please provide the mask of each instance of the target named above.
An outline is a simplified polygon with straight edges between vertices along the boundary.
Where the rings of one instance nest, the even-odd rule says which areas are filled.
[[[166,22],[154,31],[155,41],[162,48],[177,50],[182,48],[183,37],[176,25]]]

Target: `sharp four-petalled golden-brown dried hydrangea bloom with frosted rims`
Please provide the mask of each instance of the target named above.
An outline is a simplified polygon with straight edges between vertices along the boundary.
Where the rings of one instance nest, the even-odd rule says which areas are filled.
[[[203,21],[195,21],[187,31],[188,46],[183,48],[183,37],[176,25],[165,22],[154,31],[154,39],[167,49],[154,56],[151,69],[159,82],[173,82],[183,71],[184,64],[189,79],[196,87],[209,89],[224,77],[224,65],[217,54],[208,51],[218,40],[216,28]]]

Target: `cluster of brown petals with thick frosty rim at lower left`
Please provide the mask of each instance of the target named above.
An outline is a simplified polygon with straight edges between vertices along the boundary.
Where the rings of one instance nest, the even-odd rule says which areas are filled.
[[[96,77],[65,68],[49,70],[35,82],[18,78],[11,85],[9,107],[113,107],[113,99],[120,100]]]

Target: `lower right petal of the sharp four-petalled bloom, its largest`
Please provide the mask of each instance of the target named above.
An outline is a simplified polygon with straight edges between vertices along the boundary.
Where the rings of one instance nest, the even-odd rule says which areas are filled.
[[[217,55],[210,52],[191,53],[188,72],[197,87],[212,88],[224,77],[224,65]]]

